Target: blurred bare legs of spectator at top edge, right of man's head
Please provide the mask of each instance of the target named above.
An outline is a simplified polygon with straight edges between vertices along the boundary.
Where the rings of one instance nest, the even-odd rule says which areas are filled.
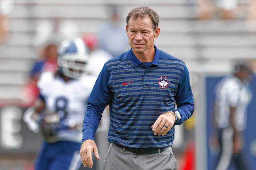
[[[220,19],[233,19],[238,0],[199,0],[199,19],[211,19],[217,13]]]

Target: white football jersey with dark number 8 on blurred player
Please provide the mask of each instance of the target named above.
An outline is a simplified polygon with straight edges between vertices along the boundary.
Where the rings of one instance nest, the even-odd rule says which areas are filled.
[[[43,72],[38,87],[45,99],[49,112],[58,113],[65,125],[76,125],[76,129],[60,130],[59,140],[82,141],[82,124],[87,107],[87,99],[97,77],[83,76],[80,80],[65,82],[52,72]]]

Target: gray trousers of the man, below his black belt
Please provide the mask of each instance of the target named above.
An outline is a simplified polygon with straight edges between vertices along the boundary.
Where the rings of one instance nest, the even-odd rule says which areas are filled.
[[[177,161],[168,147],[161,153],[134,155],[111,143],[104,170],[177,170]]]

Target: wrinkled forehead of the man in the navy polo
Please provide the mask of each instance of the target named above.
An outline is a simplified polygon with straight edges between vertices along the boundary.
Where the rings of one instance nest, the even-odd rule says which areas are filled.
[[[138,17],[133,18],[131,17],[128,26],[130,28],[144,28],[144,29],[153,29],[153,22],[150,18],[150,16],[146,15],[144,18]]]

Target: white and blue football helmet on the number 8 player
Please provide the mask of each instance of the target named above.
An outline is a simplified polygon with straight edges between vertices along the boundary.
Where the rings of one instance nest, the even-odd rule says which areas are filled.
[[[59,47],[58,71],[67,77],[77,79],[86,71],[88,49],[80,38],[64,40]]]

